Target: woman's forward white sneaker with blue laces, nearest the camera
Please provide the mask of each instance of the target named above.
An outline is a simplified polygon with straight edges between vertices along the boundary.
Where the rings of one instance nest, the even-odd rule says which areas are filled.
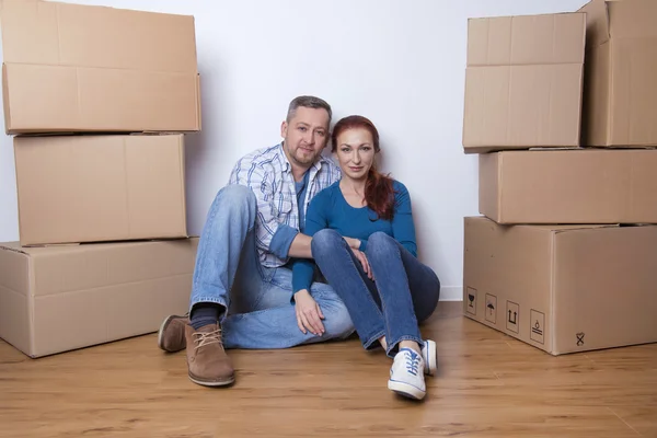
[[[411,348],[401,348],[390,369],[388,389],[408,399],[422,400],[427,393],[424,359]]]

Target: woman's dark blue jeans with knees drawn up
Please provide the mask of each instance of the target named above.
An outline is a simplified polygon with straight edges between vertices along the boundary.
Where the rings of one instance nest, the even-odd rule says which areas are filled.
[[[431,315],[440,296],[440,281],[431,268],[383,232],[370,235],[365,252],[374,281],[335,230],[315,233],[311,247],[322,274],[347,304],[366,349],[381,336],[390,357],[402,341],[422,346],[418,322]]]

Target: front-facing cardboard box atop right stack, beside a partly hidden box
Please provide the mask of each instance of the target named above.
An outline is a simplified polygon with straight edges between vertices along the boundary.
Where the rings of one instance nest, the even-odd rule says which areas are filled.
[[[465,153],[579,146],[584,13],[471,19]]]

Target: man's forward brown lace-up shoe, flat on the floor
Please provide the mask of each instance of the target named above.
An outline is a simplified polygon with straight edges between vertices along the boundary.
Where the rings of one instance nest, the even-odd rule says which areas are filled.
[[[185,336],[189,380],[204,387],[223,387],[235,381],[232,362],[223,349],[219,324],[208,324],[197,331],[186,324]]]

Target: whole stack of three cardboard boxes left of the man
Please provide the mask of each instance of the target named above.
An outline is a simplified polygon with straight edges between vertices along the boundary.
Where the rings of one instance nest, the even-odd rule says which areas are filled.
[[[200,130],[194,18],[3,0],[20,242],[0,244],[0,337],[31,357],[185,312],[184,138]]]

